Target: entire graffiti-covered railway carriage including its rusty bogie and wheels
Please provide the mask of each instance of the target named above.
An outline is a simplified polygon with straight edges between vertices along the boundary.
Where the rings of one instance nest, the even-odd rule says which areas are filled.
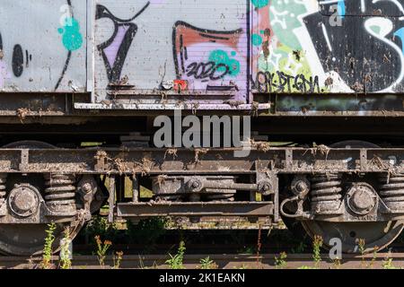
[[[111,222],[283,219],[345,252],[403,229],[403,0],[3,0],[0,15],[3,253],[39,254],[49,222],[75,235],[107,203]],[[157,148],[154,119],[178,110],[251,117],[250,155]]]

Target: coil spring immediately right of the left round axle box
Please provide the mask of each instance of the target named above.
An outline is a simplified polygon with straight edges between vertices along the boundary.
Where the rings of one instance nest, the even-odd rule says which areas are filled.
[[[75,205],[75,176],[51,175],[45,182],[45,201],[49,205]]]

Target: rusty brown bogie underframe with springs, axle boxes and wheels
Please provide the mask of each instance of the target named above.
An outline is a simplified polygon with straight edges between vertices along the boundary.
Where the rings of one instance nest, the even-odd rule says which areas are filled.
[[[384,248],[404,228],[404,149],[270,148],[253,149],[248,158],[233,152],[13,143],[0,149],[0,250],[38,254],[47,223],[57,223],[59,237],[66,228],[75,236],[103,204],[110,222],[294,220],[326,245],[341,239],[344,252],[356,252],[358,239],[367,251]],[[132,180],[131,196],[125,178]],[[153,198],[142,198],[141,186]]]

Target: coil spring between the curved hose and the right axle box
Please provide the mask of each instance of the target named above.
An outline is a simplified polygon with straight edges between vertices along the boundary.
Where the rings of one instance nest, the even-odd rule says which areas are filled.
[[[316,175],[312,177],[312,211],[327,213],[335,211],[341,204],[341,176],[338,174]]]

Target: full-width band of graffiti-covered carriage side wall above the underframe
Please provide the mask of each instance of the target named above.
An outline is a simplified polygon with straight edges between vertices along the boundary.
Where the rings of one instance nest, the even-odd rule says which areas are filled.
[[[38,0],[24,13],[26,1],[1,5],[1,91],[91,87],[97,99],[112,86],[184,97],[229,91],[223,96],[246,102],[250,91],[404,87],[399,0],[97,0],[91,11],[85,1]]]

